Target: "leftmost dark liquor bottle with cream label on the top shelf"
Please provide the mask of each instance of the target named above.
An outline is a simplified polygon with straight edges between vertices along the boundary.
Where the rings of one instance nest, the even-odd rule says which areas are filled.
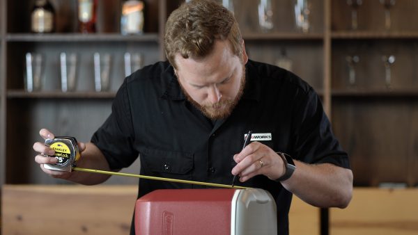
[[[36,0],[31,12],[33,33],[52,33],[55,30],[55,10],[48,0]]]

